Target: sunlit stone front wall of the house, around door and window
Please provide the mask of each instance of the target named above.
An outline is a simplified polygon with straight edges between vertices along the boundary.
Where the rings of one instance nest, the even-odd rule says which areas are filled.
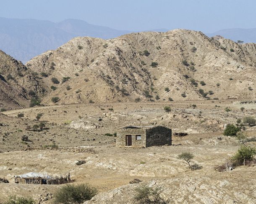
[[[146,147],[146,131],[142,128],[121,128],[116,138],[117,147],[125,147],[126,136],[131,135],[132,145],[130,147]],[[141,135],[141,140],[136,140],[136,135]]]

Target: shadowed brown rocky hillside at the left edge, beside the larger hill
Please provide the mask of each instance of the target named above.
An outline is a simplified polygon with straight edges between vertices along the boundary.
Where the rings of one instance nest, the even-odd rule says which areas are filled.
[[[0,51],[0,107],[26,107],[29,90],[42,92],[39,82],[21,61]]]

